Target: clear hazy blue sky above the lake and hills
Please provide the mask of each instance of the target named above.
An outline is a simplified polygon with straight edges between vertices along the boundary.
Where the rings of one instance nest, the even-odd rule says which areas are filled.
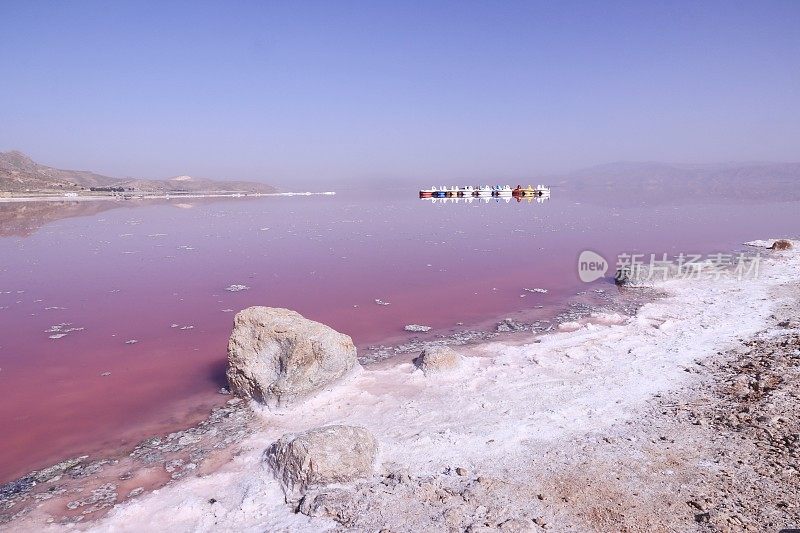
[[[0,0],[0,150],[428,183],[800,160],[800,1]]]

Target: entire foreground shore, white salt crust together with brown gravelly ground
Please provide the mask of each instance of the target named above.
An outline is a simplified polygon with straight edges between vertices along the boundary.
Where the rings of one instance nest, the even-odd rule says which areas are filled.
[[[772,444],[763,444],[758,431],[732,430],[733,422],[725,425],[727,418],[720,422],[717,416],[726,405],[741,409],[741,395],[730,396],[722,383],[738,379],[736,368],[747,374],[750,358],[769,367],[771,357],[777,365],[780,356],[785,368],[779,375],[790,375],[798,364],[791,354],[797,350],[800,253],[765,253],[769,259],[757,279],[663,282],[659,288],[669,296],[630,319],[596,316],[538,342],[480,345],[464,352],[464,367],[449,374],[426,377],[410,363],[387,362],[292,411],[259,412],[262,429],[222,468],[77,527],[758,529],[748,513],[761,512],[759,499],[777,497],[787,483],[797,485],[797,449],[791,447],[797,396],[786,390],[796,380],[768,391],[768,400],[780,402],[758,404],[764,393],[748,407],[771,410],[753,423],[765,423],[759,420],[767,416],[783,428],[780,435],[773,428],[770,439],[789,439],[780,440],[789,443],[784,459],[748,463],[753,454],[741,446]],[[759,383],[762,374],[752,379]],[[752,390],[749,383],[745,392]],[[330,423],[373,432],[380,445],[378,473],[331,491],[316,507],[321,516],[309,518],[284,504],[261,454],[286,432]],[[748,493],[736,490],[737,483],[764,486]],[[737,503],[737,492],[752,501]],[[798,525],[791,522],[796,499],[786,500],[772,502],[774,526]]]

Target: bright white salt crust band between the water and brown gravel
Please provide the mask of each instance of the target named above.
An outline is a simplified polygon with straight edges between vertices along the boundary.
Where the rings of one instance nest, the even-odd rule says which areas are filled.
[[[691,371],[698,362],[770,326],[776,309],[787,304],[776,294],[800,280],[799,267],[800,253],[775,252],[762,259],[757,279],[666,281],[659,288],[668,296],[632,318],[597,316],[580,329],[539,342],[479,345],[462,352],[466,363],[449,374],[426,377],[410,363],[365,370],[291,411],[259,411],[263,429],[215,473],[180,480],[75,529],[334,528],[333,520],[295,514],[284,504],[261,461],[264,449],[282,434],[332,423],[361,425],[375,435],[379,473],[402,468],[415,477],[435,477],[462,467],[517,487],[519,498],[511,504],[523,505],[535,494],[537,474],[544,473],[537,461],[545,451],[569,454],[565,447],[580,444],[584,436],[634,424],[655,396],[700,379]],[[574,453],[584,452],[576,447]],[[402,506],[394,510],[404,512]],[[399,523],[413,518],[400,516]]]

